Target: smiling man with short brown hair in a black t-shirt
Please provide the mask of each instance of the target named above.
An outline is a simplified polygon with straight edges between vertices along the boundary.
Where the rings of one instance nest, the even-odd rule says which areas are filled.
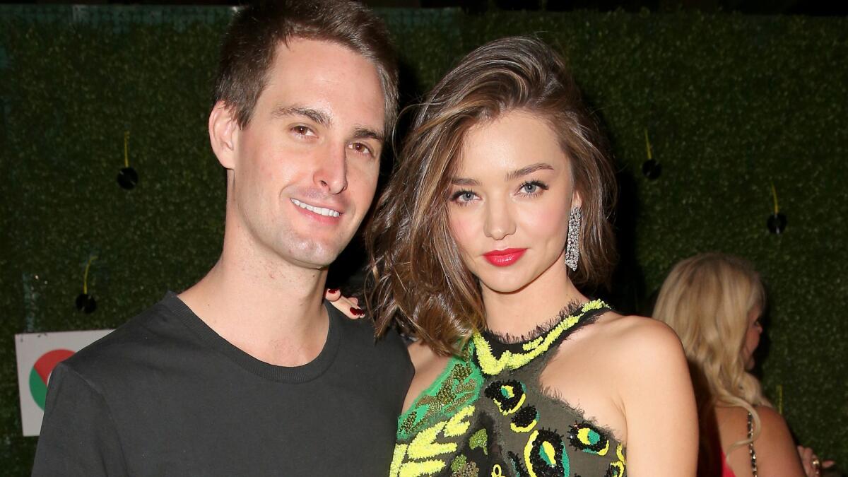
[[[379,475],[411,378],[397,335],[322,302],[371,205],[397,72],[357,3],[250,7],[222,49],[220,260],[60,364],[36,475]]]

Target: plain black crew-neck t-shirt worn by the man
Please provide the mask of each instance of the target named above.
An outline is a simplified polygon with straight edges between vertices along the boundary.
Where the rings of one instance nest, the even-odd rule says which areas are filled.
[[[385,475],[412,365],[327,305],[312,362],[261,362],[176,295],[59,363],[33,475]]]

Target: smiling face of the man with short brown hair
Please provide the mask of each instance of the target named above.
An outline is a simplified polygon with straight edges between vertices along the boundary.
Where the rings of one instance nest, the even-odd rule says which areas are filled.
[[[349,48],[298,38],[277,47],[225,164],[227,220],[254,255],[316,269],[336,259],[377,187],[383,101],[377,67]]]

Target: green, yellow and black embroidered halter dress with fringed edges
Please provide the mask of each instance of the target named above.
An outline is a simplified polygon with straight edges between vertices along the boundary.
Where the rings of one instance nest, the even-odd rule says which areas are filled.
[[[611,432],[539,384],[550,351],[605,311],[590,301],[519,343],[474,334],[400,415],[391,477],[625,475],[624,447]]]

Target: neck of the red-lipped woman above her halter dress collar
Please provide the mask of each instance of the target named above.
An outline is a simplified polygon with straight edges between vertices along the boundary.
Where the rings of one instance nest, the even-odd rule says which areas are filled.
[[[510,293],[488,289],[483,284],[486,326],[495,334],[526,336],[550,323],[566,306],[587,300],[566,274],[565,265],[550,267],[533,282]]]

